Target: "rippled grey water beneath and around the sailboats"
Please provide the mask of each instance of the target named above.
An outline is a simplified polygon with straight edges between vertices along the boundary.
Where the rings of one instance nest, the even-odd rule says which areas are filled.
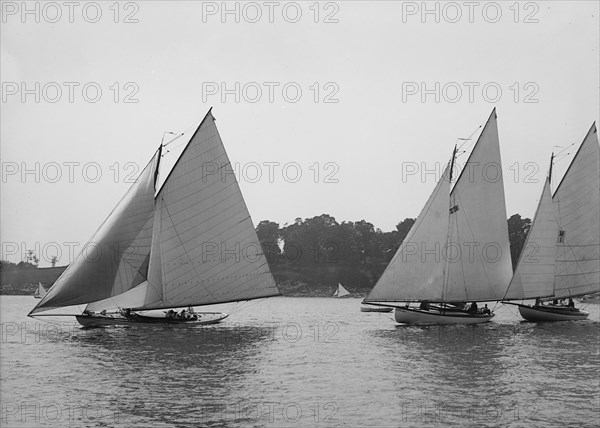
[[[208,327],[80,330],[2,296],[2,426],[597,426],[600,306],[407,327],[358,299],[227,305]],[[582,306],[578,304],[578,306]],[[212,308],[211,308],[212,310]]]

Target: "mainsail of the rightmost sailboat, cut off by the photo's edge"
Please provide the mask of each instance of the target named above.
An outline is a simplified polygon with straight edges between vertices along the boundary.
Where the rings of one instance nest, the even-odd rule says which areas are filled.
[[[595,123],[552,200],[559,227],[554,295],[600,291],[600,145]]]

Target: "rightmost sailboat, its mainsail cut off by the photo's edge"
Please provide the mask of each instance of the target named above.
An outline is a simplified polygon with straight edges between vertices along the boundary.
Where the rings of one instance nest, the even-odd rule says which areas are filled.
[[[528,321],[586,319],[574,297],[600,292],[600,145],[594,123],[551,193],[552,163],[505,300]],[[559,304],[561,299],[569,304]],[[544,304],[545,301],[552,301]]]

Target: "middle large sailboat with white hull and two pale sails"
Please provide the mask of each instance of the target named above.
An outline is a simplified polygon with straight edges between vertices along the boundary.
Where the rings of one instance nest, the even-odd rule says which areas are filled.
[[[450,191],[455,147],[363,303],[395,308],[398,323],[477,324],[494,316],[476,302],[501,300],[512,276],[496,119],[494,109]]]

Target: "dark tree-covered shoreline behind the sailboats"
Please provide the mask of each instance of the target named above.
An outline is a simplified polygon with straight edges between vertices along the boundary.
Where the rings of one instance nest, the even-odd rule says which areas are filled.
[[[364,293],[383,273],[415,219],[405,218],[396,229],[383,232],[366,220],[339,223],[328,214],[280,226],[264,220],[256,227],[263,252],[283,294],[327,295],[344,284]],[[508,220],[511,259],[515,267],[531,220],[514,214]],[[2,261],[3,292],[29,292],[32,284],[49,287],[64,267],[37,268],[36,264]],[[297,285],[302,284],[298,288]],[[11,291],[7,288],[9,287]]]

